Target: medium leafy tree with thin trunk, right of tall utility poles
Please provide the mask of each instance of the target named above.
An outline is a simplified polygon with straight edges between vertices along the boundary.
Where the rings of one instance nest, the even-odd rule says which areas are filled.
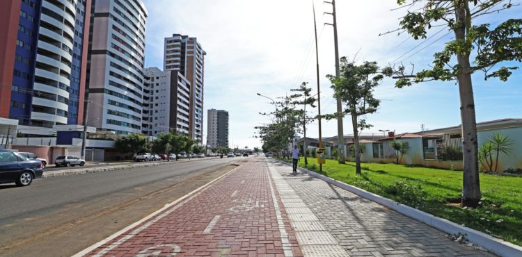
[[[336,119],[339,116],[351,115],[351,124],[354,128],[356,174],[361,174],[361,149],[359,149],[359,131],[370,128],[362,117],[375,113],[380,101],[373,97],[373,90],[383,75],[376,62],[364,62],[356,65],[354,61],[340,58],[340,76],[328,75],[333,84],[334,97],[345,103],[343,113],[326,115],[326,119]]]

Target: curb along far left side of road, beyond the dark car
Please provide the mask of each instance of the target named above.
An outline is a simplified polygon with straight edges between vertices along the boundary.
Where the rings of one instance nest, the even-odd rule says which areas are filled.
[[[171,162],[161,162],[161,163],[143,163],[143,164],[127,164],[127,165],[114,165],[109,167],[93,167],[93,168],[84,168],[84,169],[66,169],[66,170],[58,170],[54,172],[44,172],[42,178],[53,178],[55,176],[70,176],[77,174],[88,174],[88,173],[97,173],[97,172],[111,172],[115,170],[121,169],[133,169],[139,167],[153,167],[159,165],[167,165],[167,164],[176,164],[176,163],[187,163],[191,161],[197,160],[205,160],[205,159],[195,159],[195,160],[184,160],[184,161],[171,161]],[[209,160],[208,158],[206,160]],[[210,159],[212,160],[212,159]]]

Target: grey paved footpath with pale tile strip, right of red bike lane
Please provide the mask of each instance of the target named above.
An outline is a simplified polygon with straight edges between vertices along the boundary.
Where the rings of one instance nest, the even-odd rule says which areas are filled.
[[[326,256],[320,244],[306,248],[304,244],[319,240],[302,234],[310,233],[307,231],[323,233],[322,241],[316,243],[331,243],[328,234],[332,235],[345,250],[343,254],[336,249],[330,256],[493,256],[454,242],[427,224],[313,176],[303,172],[292,175],[288,165],[272,161],[269,167],[280,190],[299,196],[287,201],[282,194],[304,256]],[[299,214],[294,213],[299,210],[288,210],[304,206],[312,213],[304,211],[297,217]]]

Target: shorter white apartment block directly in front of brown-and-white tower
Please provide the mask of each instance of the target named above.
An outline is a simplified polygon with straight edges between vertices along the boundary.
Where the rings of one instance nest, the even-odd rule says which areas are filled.
[[[143,135],[189,134],[190,83],[177,71],[145,69],[143,86]]]

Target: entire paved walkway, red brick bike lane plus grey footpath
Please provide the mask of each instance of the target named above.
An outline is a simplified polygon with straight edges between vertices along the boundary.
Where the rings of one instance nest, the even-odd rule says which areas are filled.
[[[77,256],[491,256],[292,168],[235,171]]]

